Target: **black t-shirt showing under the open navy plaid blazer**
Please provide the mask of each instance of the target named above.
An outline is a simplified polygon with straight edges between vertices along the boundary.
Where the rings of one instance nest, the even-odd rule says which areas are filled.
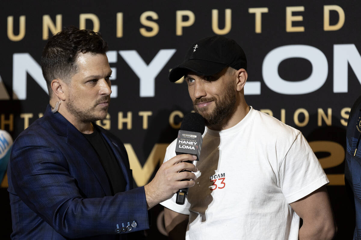
[[[108,177],[112,194],[114,195],[116,193],[125,191],[126,181],[122,169],[120,168],[112,149],[110,149],[109,144],[105,141],[99,130],[94,127],[93,133],[83,133],[83,136],[90,142],[98,154],[101,165],[103,166],[106,176]]]

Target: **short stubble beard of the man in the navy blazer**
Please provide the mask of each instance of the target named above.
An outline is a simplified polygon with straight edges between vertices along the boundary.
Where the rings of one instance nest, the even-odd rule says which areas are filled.
[[[92,111],[92,109],[96,108],[96,106],[99,103],[103,103],[104,101],[110,101],[110,96],[109,95],[103,96],[102,98],[100,98],[99,100],[97,100],[95,102],[93,107],[88,108],[86,110],[82,110],[75,106],[74,98],[70,97],[68,104],[66,104],[66,109],[68,110],[69,113],[71,113],[80,122],[84,122],[84,123],[95,122],[98,120],[105,119],[106,114],[104,116],[100,116],[100,115],[91,114],[90,112]],[[109,107],[109,105],[108,105],[108,107]],[[108,113],[108,107],[103,108],[103,111],[105,113]]]

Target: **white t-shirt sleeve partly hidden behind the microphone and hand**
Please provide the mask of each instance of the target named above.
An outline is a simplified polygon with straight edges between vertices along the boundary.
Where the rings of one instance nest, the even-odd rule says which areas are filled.
[[[177,139],[176,139],[177,140]],[[174,140],[171,144],[169,144],[169,146],[167,147],[166,153],[165,153],[165,157],[164,157],[164,161],[166,162],[169,159],[175,157],[175,144],[176,144],[176,140]],[[186,199],[184,201],[184,205],[179,205],[177,203],[175,203],[175,200],[177,198],[177,194],[174,194],[170,199],[165,200],[163,202],[161,202],[160,204],[163,205],[166,208],[169,208],[170,210],[173,210],[174,212],[177,213],[182,213],[182,214],[187,214],[189,215],[189,208],[191,206],[191,204],[188,202],[188,200]]]

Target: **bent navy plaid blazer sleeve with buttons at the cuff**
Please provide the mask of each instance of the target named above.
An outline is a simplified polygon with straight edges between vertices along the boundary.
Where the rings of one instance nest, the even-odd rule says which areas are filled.
[[[131,231],[149,228],[144,187],[114,196],[83,198],[64,154],[37,134],[18,137],[9,172],[19,198],[65,237],[122,234],[122,223],[127,226],[133,221],[137,226]]]

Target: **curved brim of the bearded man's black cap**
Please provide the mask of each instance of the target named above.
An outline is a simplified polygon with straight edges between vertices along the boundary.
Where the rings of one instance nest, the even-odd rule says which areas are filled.
[[[176,82],[187,72],[192,71],[204,76],[209,76],[221,72],[223,68],[227,67],[223,63],[215,63],[201,59],[187,60],[177,66],[175,66],[168,75],[169,81]]]

